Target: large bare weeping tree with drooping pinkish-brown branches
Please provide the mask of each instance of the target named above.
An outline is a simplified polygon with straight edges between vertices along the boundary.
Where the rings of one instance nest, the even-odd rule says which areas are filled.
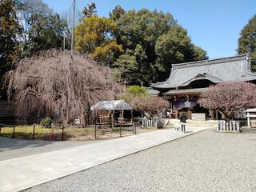
[[[114,99],[120,87],[109,68],[86,55],[44,51],[25,58],[5,75],[10,101],[19,118],[50,116],[64,122],[90,115],[90,106]]]

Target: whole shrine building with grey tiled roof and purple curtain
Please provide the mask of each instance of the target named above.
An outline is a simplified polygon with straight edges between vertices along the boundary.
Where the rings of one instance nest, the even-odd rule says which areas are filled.
[[[256,83],[249,54],[173,64],[170,77],[165,82],[152,83],[151,93],[170,101],[169,118],[179,118],[183,112],[188,119],[205,114],[206,119],[214,120],[221,119],[221,112],[201,107],[198,104],[200,94],[210,85],[240,81]]]

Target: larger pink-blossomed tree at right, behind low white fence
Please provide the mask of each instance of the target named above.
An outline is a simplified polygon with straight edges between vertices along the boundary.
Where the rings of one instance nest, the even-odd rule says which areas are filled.
[[[210,86],[198,101],[203,107],[220,110],[230,121],[240,110],[256,106],[256,85],[250,82],[223,82]]]

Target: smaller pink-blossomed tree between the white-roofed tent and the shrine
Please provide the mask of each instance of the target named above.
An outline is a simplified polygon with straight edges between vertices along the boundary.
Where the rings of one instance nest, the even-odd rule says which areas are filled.
[[[154,114],[158,112],[158,110],[162,110],[163,108],[170,105],[168,101],[160,97],[143,95],[138,98],[134,98],[131,101],[131,105],[134,107],[134,110],[141,111],[143,114],[146,112],[150,114],[152,118]]]

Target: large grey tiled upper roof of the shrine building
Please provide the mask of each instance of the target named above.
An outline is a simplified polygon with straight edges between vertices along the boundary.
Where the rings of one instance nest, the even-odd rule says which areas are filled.
[[[198,78],[200,75],[210,81],[216,81],[216,83],[256,79],[256,74],[253,74],[250,70],[249,55],[240,54],[230,58],[174,64],[166,82],[153,83],[151,86],[158,89],[186,86],[186,82],[193,81],[194,78]]]

